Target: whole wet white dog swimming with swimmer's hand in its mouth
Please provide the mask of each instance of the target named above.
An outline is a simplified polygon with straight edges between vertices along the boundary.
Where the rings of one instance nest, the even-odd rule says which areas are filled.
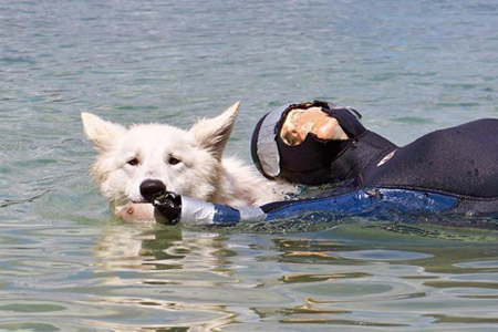
[[[166,124],[125,128],[82,113],[84,132],[98,151],[93,175],[115,216],[153,220],[146,198],[162,190],[231,206],[282,199],[291,185],[268,180],[235,157],[224,157],[239,103],[184,131]],[[158,215],[156,214],[156,217]]]

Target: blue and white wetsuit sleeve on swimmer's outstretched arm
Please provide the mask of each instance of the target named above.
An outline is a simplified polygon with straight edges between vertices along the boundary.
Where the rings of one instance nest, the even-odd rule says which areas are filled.
[[[181,197],[180,222],[232,226],[239,222],[271,222],[300,218],[325,217],[328,220],[347,217],[428,216],[448,211],[458,204],[454,196],[425,190],[364,188],[313,199],[283,200],[261,207],[231,207]]]

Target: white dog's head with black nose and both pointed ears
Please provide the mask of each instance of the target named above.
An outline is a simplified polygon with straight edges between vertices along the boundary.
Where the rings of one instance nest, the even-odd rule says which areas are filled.
[[[146,201],[165,189],[209,200],[238,108],[236,103],[188,131],[166,124],[126,128],[82,113],[86,137],[98,152],[93,174],[101,191],[116,206]]]

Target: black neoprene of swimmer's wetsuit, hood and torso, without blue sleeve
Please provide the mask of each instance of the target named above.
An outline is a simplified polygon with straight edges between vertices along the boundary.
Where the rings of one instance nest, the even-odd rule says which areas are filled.
[[[436,131],[398,147],[367,131],[354,110],[313,102],[289,106],[277,132],[290,111],[313,106],[335,117],[350,139],[323,141],[309,134],[301,145],[288,146],[277,135],[279,177],[307,185],[342,183],[324,196],[370,187],[428,190],[457,197],[458,211],[498,211],[498,120]]]

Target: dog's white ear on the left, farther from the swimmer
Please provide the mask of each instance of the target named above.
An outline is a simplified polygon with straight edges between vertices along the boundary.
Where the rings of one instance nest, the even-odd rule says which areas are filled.
[[[101,152],[108,151],[113,142],[126,131],[125,127],[104,121],[91,113],[83,112],[81,114],[81,120],[86,137],[92,141]]]

